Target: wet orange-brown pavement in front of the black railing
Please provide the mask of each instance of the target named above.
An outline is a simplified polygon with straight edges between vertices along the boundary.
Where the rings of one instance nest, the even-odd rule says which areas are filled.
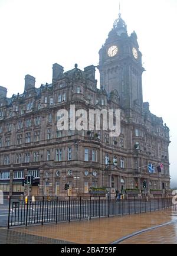
[[[156,227],[164,223],[165,226]],[[146,231],[148,228],[155,229]],[[142,233],[136,234],[136,232]],[[96,218],[90,221],[53,223],[43,226],[34,225],[27,228],[17,227],[10,228],[9,231],[7,229],[0,229],[0,243],[177,244],[176,234],[177,211],[169,208],[156,212],[137,213],[135,215]]]

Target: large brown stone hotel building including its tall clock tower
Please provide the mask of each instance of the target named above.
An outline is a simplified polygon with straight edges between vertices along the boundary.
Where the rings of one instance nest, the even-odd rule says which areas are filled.
[[[169,128],[149,111],[142,96],[142,53],[135,31],[129,36],[121,15],[114,22],[99,51],[100,89],[93,65],[64,72],[53,65],[51,84],[35,88],[35,77],[25,76],[24,93],[6,97],[0,86],[0,190],[4,194],[28,194],[22,186],[34,177],[30,195],[88,194],[90,187],[107,187],[114,193],[125,189],[168,190]],[[61,131],[59,109],[69,118],[77,109],[121,109],[121,132]],[[69,119],[70,120],[70,119]],[[163,163],[159,172],[156,167]],[[155,166],[149,173],[148,164]]]

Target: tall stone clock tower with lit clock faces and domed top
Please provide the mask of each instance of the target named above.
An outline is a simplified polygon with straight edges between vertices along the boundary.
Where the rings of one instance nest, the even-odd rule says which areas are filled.
[[[129,36],[121,14],[114,21],[106,42],[99,51],[100,87],[107,93],[117,90],[120,106],[142,110],[142,53],[135,31]]]

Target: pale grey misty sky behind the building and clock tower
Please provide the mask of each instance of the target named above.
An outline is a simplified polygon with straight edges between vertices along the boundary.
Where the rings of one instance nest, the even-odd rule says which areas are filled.
[[[177,1],[122,0],[128,33],[136,31],[143,54],[143,101],[170,128],[171,183],[177,186],[176,59]],[[52,65],[67,71],[99,63],[99,49],[119,12],[118,0],[0,0],[0,85],[8,96],[51,82]],[[99,85],[98,85],[99,87]]]

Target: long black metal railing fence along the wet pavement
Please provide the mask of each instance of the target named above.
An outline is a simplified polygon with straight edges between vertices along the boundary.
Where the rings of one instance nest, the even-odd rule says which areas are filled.
[[[35,198],[17,200],[9,197],[8,228],[18,225],[32,225],[48,222],[64,222],[96,217],[130,215],[132,213],[152,212],[171,208],[171,196],[137,197],[128,196],[126,199],[104,199],[103,197],[89,197],[77,199],[68,197],[62,200],[58,197]]]

